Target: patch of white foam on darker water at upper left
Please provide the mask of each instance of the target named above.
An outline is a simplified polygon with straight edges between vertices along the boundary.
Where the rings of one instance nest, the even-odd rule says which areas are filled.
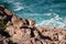
[[[8,3],[12,4],[13,11],[20,11],[20,10],[24,9],[24,7],[22,7],[22,3],[15,2],[14,0],[10,0],[10,1],[8,1]]]

